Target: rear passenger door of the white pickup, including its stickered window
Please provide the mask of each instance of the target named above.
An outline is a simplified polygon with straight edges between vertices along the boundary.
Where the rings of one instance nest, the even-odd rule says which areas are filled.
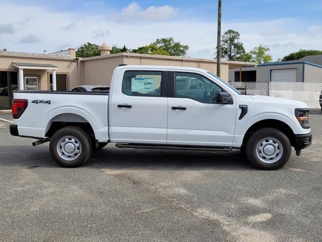
[[[112,142],[167,143],[167,71],[120,71],[118,76],[123,79],[117,80],[110,96],[114,98],[109,130]]]

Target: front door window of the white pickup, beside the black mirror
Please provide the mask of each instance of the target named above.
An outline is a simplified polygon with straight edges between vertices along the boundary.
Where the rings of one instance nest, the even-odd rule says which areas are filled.
[[[206,77],[195,73],[175,73],[175,97],[213,103],[222,89]]]

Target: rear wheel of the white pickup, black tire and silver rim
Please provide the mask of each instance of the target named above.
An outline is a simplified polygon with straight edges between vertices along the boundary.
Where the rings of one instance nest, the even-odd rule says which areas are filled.
[[[70,155],[65,152],[65,149],[67,151],[66,146],[64,146],[64,148],[62,148],[61,145],[59,147],[57,146],[58,143],[64,144],[62,142],[71,143],[71,147],[74,145],[74,151],[72,151]],[[71,148],[71,150],[72,149],[73,148]],[[78,153],[77,149],[79,150]],[[63,167],[79,167],[90,158],[92,154],[92,142],[90,136],[84,130],[78,127],[68,126],[56,131],[56,133],[52,136],[49,144],[49,151],[51,157],[59,165]]]

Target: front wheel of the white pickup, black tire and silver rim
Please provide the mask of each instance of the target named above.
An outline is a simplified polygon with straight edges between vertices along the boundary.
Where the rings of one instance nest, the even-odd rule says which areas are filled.
[[[268,147],[270,144],[271,146]],[[265,147],[267,153],[271,152],[274,156],[267,155]],[[255,167],[263,170],[277,170],[289,160],[292,149],[291,143],[284,133],[273,128],[263,128],[251,134],[245,151],[247,158]]]

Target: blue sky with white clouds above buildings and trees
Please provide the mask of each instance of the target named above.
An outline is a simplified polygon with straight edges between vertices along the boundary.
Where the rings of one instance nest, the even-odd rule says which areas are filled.
[[[156,38],[189,45],[190,57],[214,58],[217,0],[0,0],[0,49],[42,53],[86,42],[137,48]],[[222,0],[221,34],[240,33],[277,61],[299,49],[322,50],[321,0]]]

